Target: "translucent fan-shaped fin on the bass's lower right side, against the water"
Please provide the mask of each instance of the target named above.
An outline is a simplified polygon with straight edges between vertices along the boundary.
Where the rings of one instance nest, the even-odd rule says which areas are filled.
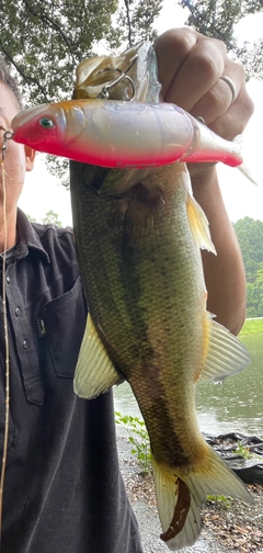
[[[251,362],[243,343],[207,314],[208,349],[201,376],[215,383],[245,369]]]

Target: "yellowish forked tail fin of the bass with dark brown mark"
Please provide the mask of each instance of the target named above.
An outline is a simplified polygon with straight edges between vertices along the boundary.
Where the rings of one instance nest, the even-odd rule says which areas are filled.
[[[227,495],[253,503],[242,481],[209,445],[206,464],[188,474],[163,467],[153,458],[152,469],[163,530],[160,538],[172,551],[193,545],[199,537],[199,509],[207,495]]]

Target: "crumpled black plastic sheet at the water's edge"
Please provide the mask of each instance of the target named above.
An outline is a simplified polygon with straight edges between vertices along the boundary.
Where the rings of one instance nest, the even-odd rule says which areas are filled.
[[[245,484],[263,484],[263,440],[256,436],[226,433],[203,435],[207,443]],[[238,451],[242,449],[248,458]],[[250,456],[256,455],[256,456]]]

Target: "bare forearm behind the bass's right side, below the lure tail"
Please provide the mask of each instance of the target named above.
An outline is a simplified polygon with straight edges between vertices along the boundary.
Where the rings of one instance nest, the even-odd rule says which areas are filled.
[[[217,256],[202,251],[205,282],[208,291],[207,309],[231,332],[238,334],[245,318],[245,273],[242,255],[229,221],[216,167],[192,177],[193,193],[208,221]]]

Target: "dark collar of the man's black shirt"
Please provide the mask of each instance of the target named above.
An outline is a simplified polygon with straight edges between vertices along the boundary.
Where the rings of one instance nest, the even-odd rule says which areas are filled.
[[[32,249],[38,252],[39,256],[49,263],[49,256],[43,247],[36,229],[37,225],[35,225],[34,228],[34,223],[31,223],[27,219],[26,215],[20,208],[18,208],[16,244],[14,246],[13,255],[14,257],[16,257],[16,259],[22,259],[26,257]]]

